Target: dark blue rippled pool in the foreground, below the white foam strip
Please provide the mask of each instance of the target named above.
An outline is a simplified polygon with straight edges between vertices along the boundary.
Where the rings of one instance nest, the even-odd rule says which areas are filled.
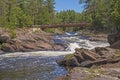
[[[0,60],[0,80],[52,80],[67,73],[55,62],[59,57],[17,57]]]

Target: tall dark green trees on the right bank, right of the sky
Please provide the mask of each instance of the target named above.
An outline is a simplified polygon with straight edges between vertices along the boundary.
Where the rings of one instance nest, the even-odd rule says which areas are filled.
[[[110,31],[120,26],[120,0],[79,0],[85,3],[84,20],[93,23],[92,29]]]

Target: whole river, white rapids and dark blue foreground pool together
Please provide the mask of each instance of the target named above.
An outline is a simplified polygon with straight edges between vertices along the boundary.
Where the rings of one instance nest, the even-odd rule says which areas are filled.
[[[72,54],[75,48],[92,49],[108,46],[107,42],[91,42],[89,36],[77,33],[55,35],[56,44],[67,44],[66,51],[17,52],[0,55],[0,80],[53,80],[67,74],[56,60]]]

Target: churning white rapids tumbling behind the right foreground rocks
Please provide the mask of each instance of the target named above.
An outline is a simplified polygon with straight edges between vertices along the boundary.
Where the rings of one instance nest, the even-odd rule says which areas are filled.
[[[73,42],[73,40],[71,40]],[[83,40],[83,39],[76,39],[75,42],[69,43],[69,47],[67,50],[71,50],[74,52],[75,48],[85,48],[85,49],[93,49],[95,47],[106,47],[109,46],[109,43],[104,43],[104,42],[94,42],[94,41],[89,41],[89,40]]]

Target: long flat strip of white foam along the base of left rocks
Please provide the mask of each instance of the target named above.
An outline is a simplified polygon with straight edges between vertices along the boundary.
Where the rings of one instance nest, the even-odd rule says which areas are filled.
[[[31,57],[31,56],[52,57],[52,56],[62,56],[72,53],[73,53],[72,51],[15,52],[15,53],[2,54],[0,55],[0,57]]]

